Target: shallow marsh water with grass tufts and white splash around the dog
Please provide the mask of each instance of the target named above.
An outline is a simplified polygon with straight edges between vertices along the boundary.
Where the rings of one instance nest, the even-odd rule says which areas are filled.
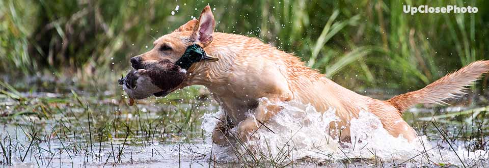
[[[255,133],[255,142],[219,147],[209,135],[223,111],[203,87],[128,106],[121,91],[2,86],[2,167],[464,167],[487,166],[489,159],[484,94],[406,111],[404,119],[419,135],[411,143],[390,136],[368,111],[351,121],[355,140],[340,143],[328,135],[334,109],[284,102],[284,111]]]

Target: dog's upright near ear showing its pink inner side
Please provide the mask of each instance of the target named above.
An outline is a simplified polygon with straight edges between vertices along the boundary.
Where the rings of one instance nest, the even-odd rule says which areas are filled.
[[[197,26],[194,27],[192,38],[196,42],[200,42],[206,46],[212,42],[212,34],[214,33],[215,20],[210,10],[210,6],[205,6],[204,10],[200,14]]]

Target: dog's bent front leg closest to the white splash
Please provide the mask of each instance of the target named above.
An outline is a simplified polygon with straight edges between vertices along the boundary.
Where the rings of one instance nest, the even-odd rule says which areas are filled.
[[[290,95],[260,98],[254,115],[248,117],[238,125],[237,133],[241,141],[248,141],[262,124],[265,124],[277,115],[283,109],[283,106],[279,105],[279,103],[290,101]]]

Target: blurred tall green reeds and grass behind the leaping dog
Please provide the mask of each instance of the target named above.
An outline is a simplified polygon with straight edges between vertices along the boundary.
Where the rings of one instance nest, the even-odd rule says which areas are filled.
[[[215,31],[258,37],[355,91],[416,90],[489,60],[489,1],[3,0],[2,80],[34,91],[45,80],[54,84],[38,88],[114,89],[129,58],[206,5]],[[410,15],[403,5],[475,6],[478,13]]]

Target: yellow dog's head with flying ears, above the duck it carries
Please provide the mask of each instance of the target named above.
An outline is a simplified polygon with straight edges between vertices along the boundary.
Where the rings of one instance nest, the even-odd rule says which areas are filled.
[[[134,69],[143,69],[145,64],[167,59],[175,63],[185,49],[192,44],[202,47],[212,42],[214,32],[214,16],[209,6],[200,14],[199,20],[193,19],[180,26],[170,34],[161,36],[153,42],[153,48],[130,59]]]

